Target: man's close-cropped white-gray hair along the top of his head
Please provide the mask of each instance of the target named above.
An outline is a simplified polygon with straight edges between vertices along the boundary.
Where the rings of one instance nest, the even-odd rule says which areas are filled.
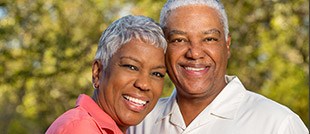
[[[172,10],[189,5],[205,5],[215,9],[220,15],[225,39],[227,40],[229,34],[228,19],[224,6],[219,0],[167,0],[160,13],[160,25],[162,27],[166,26],[167,18]]]

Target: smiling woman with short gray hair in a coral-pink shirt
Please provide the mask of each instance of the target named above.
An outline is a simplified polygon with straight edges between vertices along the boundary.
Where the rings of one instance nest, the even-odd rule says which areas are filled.
[[[126,133],[154,108],[166,73],[166,41],[150,18],[125,16],[100,38],[92,67],[94,95],[80,95],[76,107],[46,133]]]

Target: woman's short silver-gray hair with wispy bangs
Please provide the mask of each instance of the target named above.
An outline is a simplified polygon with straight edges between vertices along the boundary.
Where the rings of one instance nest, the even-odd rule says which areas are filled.
[[[106,69],[113,54],[132,39],[160,47],[166,52],[167,42],[158,23],[145,16],[124,16],[114,21],[101,35],[95,60]]]

